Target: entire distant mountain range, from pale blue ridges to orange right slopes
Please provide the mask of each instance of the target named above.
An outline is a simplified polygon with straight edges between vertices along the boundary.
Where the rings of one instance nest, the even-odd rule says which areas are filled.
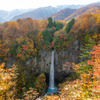
[[[30,17],[32,19],[47,19],[52,17],[54,20],[68,21],[72,18],[78,18],[83,13],[98,13],[100,10],[100,2],[90,5],[60,5],[57,7],[40,7],[37,9],[26,10],[13,10],[3,11],[0,10],[0,23],[5,21],[17,21]]]

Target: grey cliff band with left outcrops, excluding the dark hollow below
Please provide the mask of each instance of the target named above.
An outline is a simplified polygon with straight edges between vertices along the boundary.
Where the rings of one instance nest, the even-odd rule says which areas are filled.
[[[75,41],[68,50],[57,52],[55,50],[55,72],[66,71],[69,72],[72,70],[72,63],[79,63],[81,59],[80,56],[80,43]],[[15,60],[9,58],[8,67],[13,65]],[[26,67],[34,66],[36,72],[45,72],[49,73],[49,68],[51,65],[51,51],[39,51],[39,57],[34,59],[29,59],[26,61]],[[34,70],[34,68],[32,69]]]

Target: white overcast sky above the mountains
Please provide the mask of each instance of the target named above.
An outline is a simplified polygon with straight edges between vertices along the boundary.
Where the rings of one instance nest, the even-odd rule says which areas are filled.
[[[0,10],[29,9],[57,5],[86,5],[100,0],[0,0]]]

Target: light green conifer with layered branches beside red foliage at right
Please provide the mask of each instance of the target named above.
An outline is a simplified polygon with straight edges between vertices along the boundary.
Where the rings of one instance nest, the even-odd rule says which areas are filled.
[[[95,41],[89,36],[87,35],[85,37],[85,39],[87,40],[84,47],[81,48],[81,56],[80,58],[84,59],[80,64],[82,64],[83,66],[80,67],[80,72],[88,72],[92,70],[92,65],[87,65],[87,61],[91,59],[92,55],[89,55],[92,51],[93,51],[93,46],[96,45]]]

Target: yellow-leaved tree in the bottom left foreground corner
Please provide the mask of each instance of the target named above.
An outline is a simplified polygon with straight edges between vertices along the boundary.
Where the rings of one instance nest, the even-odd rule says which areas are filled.
[[[0,65],[0,100],[12,100],[16,95],[16,66],[6,69],[5,64]]]

